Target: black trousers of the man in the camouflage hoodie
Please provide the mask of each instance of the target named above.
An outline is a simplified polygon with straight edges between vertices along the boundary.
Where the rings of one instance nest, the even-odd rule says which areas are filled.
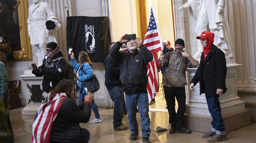
[[[163,89],[171,127],[177,129],[184,127],[184,113],[186,107],[185,87],[175,88],[163,86]],[[177,114],[175,110],[175,97],[179,105]]]

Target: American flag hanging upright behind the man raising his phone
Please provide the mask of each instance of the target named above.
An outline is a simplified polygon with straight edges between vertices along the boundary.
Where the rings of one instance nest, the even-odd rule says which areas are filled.
[[[156,13],[154,7],[151,8],[150,20],[148,24],[147,33],[143,43],[153,54],[153,60],[148,63],[148,101],[151,101],[159,91],[159,77],[158,77],[158,58],[157,52],[161,50],[162,40],[159,26],[157,23]]]

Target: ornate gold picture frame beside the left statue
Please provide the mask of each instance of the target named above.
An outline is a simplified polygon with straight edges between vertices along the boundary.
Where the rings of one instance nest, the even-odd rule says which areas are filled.
[[[33,56],[27,24],[29,16],[28,0],[18,0],[16,6],[18,6],[21,51],[13,51],[14,59],[12,61],[31,61]]]

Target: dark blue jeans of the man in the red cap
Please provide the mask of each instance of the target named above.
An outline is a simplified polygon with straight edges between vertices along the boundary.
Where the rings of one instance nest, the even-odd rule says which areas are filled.
[[[209,112],[212,116],[212,131],[218,135],[226,135],[225,123],[221,115],[221,106],[218,94],[206,96]]]

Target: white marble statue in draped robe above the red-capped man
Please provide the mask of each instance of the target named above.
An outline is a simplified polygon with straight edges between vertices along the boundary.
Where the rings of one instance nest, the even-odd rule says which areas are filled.
[[[197,35],[207,31],[209,25],[210,32],[215,35],[213,44],[225,53],[225,57],[234,56],[227,14],[224,10],[225,0],[188,0],[179,9],[183,8],[188,9],[189,19]],[[197,53],[193,58],[200,58],[203,52],[201,41],[198,40],[197,44]]]

